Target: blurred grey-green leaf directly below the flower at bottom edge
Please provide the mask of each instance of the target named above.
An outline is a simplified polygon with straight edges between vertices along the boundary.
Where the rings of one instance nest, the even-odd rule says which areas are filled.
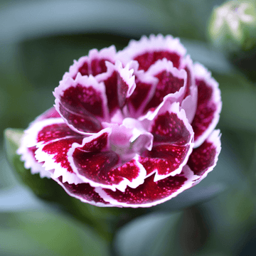
[[[177,255],[176,235],[181,213],[153,213],[120,229],[114,240],[117,255]]]

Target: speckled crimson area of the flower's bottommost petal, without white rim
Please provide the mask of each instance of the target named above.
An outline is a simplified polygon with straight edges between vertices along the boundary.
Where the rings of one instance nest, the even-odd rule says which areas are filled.
[[[154,182],[154,176],[149,176],[142,185],[137,188],[127,187],[124,193],[118,190],[111,191],[110,189],[104,189],[104,191],[119,203],[139,205],[153,203],[171,196],[184,185],[186,180],[187,178],[183,174],[174,177],[169,176],[156,182]]]

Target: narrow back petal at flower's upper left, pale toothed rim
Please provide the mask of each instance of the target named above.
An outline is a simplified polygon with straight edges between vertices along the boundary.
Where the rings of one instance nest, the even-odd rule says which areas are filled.
[[[63,80],[73,78],[75,80],[78,73],[81,75],[99,75],[107,71],[106,61],[115,62],[116,49],[114,46],[104,48],[100,51],[92,49],[88,56],[81,57],[70,66],[69,72],[65,73]]]

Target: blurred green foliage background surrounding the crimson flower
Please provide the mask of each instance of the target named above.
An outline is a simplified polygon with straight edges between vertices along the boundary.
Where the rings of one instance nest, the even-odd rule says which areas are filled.
[[[0,255],[255,255],[255,1],[0,0]],[[197,186],[146,210],[106,210],[11,169],[19,135],[92,48],[150,33],[181,38],[212,71],[222,151]],[[5,146],[4,146],[5,145]],[[16,161],[16,162],[14,162]],[[46,180],[46,181],[45,181]],[[42,192],[43,191],[43,192]]]

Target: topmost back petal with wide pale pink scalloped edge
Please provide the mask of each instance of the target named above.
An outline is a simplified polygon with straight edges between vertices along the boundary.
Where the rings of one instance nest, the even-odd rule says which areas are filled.
[[[171,60],[174,67],[178,68],[185,53],[186,49],[181,45],[178,38],[164,37],[159,34],[157,36],[150,35],[149,38],[142,36],[139,41],[130,41],[124,50],[117,53],[117,56],[123,63],[137,60],[139,69],[146,71],[157,60],[163,58]]]

